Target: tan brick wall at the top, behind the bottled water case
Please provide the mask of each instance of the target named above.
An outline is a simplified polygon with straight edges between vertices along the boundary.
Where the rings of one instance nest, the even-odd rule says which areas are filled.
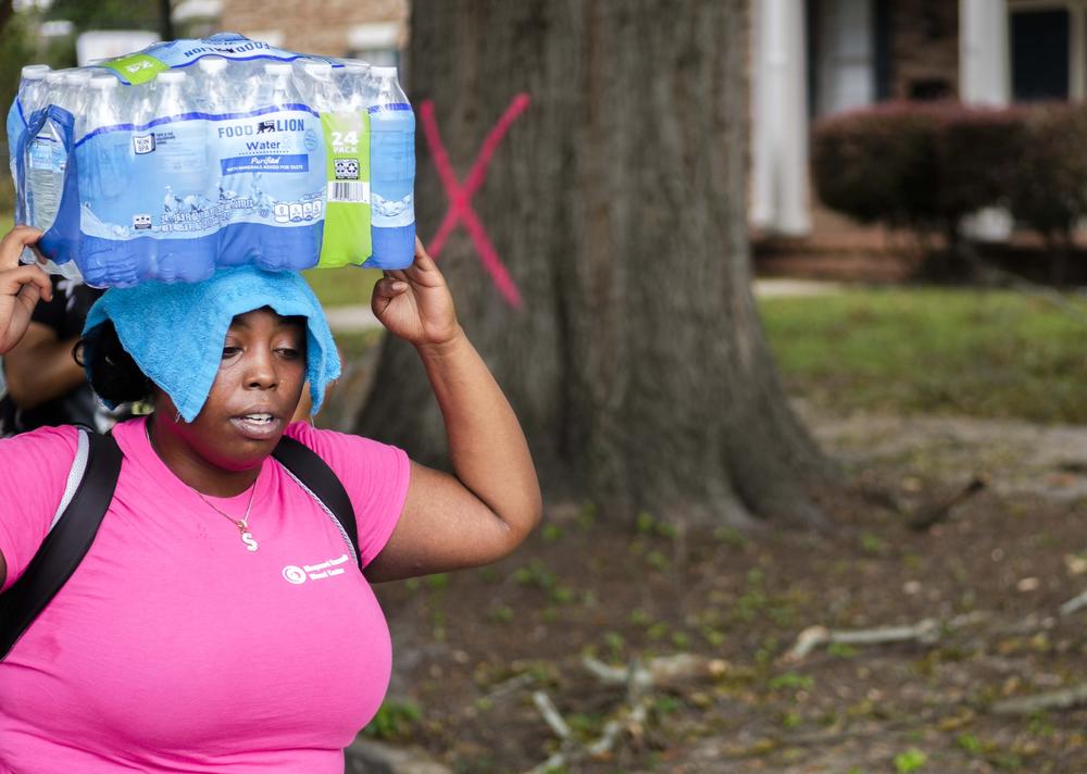
[[[220,29],[245,35],[278,32],[284,48],[342,57],[353,25],[396,22],[407,43],[408,0],[224,0]]]

